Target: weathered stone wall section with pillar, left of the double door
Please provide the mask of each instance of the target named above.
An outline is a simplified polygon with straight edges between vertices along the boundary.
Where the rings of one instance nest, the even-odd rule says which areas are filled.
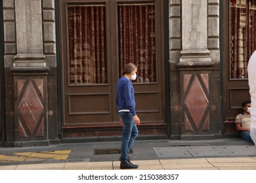
[[[17,112],[22,113],[22,107],[15,105],[17,105],[16,97],[20,94],[18,91],[24,89],[22,88],[22,80],[31,80],[32,83],[35,81],[35,85],[37,85],[34,85],[35,88],[33,88],[32,85],[28,84],[28,88],[24,92],[25,97],[22,100],[26,101],[28,98],[26,92],[30,93],[29,90],[35,90],[37,87],[42,95],[45,95],[45,99],[41,100],[40,96],[37,96],[37,99],[31,101],[35,101],[34,105],[40,103],[40,100],[41,103],[45,104],[43,120],[47,125],[45,126],[47,137],[43,140],[51,143],[51,141],[58,138],[54,0],[3,0],[3,28],[6,93],[5,146],[15,144],[14,142],[17,141],[18,136],[17,131],[20,130],[18,128]],[[39,75],[42,77],[38,78]],[[22,101],[20,101],[21,104]],[[26,116],[24,113],[22,114]],[[28,118],[28,116],[25,118]],[[24,121],[27,125],[30,125],[30,120],[25,119]],[[28,128],[32,129],[34,127],[32,125]],[[26,130],[23,129],[23,131]],[[26,141],[26,138],[24,138],[24,141]],[[37,143],[40,144],[40,142]],[[22,144],[17,144],[17,146],[19,145]]]

